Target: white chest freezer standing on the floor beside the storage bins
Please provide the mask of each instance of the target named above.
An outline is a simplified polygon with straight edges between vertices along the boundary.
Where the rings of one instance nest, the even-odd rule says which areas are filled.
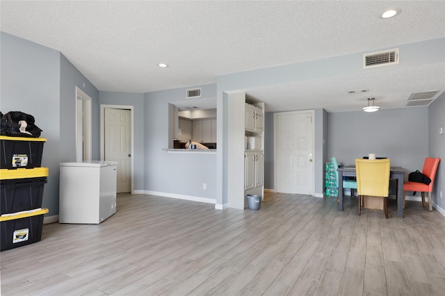
[[[99,224],[116,213],[115,161],[60,163],[59,223]]]

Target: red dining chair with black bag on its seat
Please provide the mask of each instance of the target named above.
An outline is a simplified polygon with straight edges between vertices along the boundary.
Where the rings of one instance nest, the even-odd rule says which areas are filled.
[[[426,185],[425,183],[419,182],[405,182],[403,183],[403,208],[405,208],[405,191],[419,191],[422,192],[422,206],[425,208],[425,192],[428,192],[428,205],[430,206],[430,211],[432,211],[432,186],[434,184],[434,179],[437,172],[437,167],[439,166],[440,158],[425,158],[425,163],[423,163],[422,174],[428,176],[431,179],[431,183]]]

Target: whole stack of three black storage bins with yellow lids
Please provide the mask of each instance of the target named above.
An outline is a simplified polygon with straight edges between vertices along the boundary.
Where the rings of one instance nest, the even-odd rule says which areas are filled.
[[[0,135],[1,251],[29,245],[42,238],[44,184],[48,168],[42,163],[44,138]]]

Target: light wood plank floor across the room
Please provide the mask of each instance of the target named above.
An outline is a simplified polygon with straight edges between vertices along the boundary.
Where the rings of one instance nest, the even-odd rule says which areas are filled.
[[[44,224],[1,252],[1,295],[444,295],[445,217],[267,193],[259,211],[118,196],[102,224]],[[391,203],[392,202],[392,203]]]

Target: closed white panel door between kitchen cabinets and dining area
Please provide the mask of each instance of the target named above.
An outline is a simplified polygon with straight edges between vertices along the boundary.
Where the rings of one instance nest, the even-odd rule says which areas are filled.
[[[277,192],[314,195],[313,113],[276,113]]]

